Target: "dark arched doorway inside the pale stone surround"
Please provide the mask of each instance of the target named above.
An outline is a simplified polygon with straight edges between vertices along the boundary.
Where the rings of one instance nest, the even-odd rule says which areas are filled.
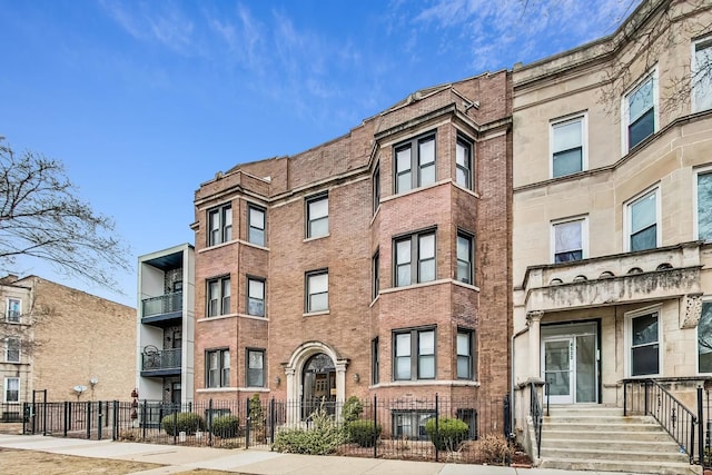
[[[336,367],[332,358],[317,353],[309,357],[301,372],[301,418],[307,418],[322,405],[334,414],[336,406]]]

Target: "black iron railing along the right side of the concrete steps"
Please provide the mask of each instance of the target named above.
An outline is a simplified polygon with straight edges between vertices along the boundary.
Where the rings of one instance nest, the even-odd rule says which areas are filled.
[[[650,415],[675,439],[690,457],[690,463],[695,463],[695,433],[698,416],[685,407],[675,396],[665,389],[655,379],[624,379],[623,380],[623,415],[643,414]],[[700,449],[702,439],[698,439]]]

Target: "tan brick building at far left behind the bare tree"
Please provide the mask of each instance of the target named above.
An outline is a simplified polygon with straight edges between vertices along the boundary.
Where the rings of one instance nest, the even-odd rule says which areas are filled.
[[[2,403],[126,400],[136,384],[136,310],[36,276],[0,280]],[[93,384],[92,384],[93,380]],[[82,393],[76,386],[83,386]]]

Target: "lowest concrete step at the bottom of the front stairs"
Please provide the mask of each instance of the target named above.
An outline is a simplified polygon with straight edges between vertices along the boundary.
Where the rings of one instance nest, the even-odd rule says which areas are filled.
[[[545,458],[538,468],[560,468],[566,471],[624,472],[656,475],[700,475],[702,468],[689,463],[657,461],[621,462],[610,459],[581,461],[575,458]]]

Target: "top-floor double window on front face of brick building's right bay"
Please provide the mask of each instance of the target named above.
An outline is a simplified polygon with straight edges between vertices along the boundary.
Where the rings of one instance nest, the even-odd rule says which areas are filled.
[[[435,182],[435,133],[397,145],[395,156],[397,194]]]

